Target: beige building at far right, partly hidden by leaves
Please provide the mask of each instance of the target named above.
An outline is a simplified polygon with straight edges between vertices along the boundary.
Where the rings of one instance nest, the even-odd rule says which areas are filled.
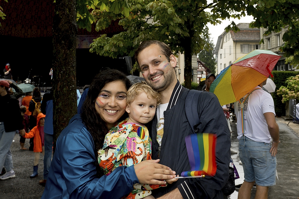
[[[284,52],[280,52],[279,50],[280,46],[283,44],[283,34],[288,30],[288,27],[289,26],[282,28],[279,33],[272,32],[267,36],[264,36],[264,33],[267,31],[267,29],[260,28],[260,38],[264,39],[264,43],[260,45],[260,49],[271,50],[273,53],[276,53],[281,56],[273,70],[293,71],[296,69],[296,66],[285,63],[286,58],[283,56]]]

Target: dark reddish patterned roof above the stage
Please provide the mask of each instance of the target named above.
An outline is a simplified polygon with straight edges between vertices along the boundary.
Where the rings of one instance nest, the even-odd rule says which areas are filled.
[[[53,0],[9,0],[8,3],[0,1],[6,19],[0,19],[0,35],[23,38],[51,37],[55,3]],[[101,35],[119,33],[123,27],[118,21],[112,21],[105,30],[96,32],[92,24],[91,32],[78,29],[77,35]]]

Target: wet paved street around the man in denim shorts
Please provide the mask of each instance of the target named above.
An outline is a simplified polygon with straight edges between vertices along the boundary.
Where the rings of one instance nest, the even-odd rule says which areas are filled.
[[[276,118],[280,132],[280,144],[278,146],[277,174],[279,180],[276,179],[276,185],[269,187],[269,199],[286,199],[299,198],[299,124],[292,122],[287,126],[289,121],[284,121],[282,118]],[[292,127],[292,128],[291,128]],[[238,151],[237,126],[231,121],[233,131],[232,149]],[[234,164],[240,175],[240,179],[235,181],[236,185],[242,184],[244,181],[244,172],[242,164],[239,164],[239,156],[233,154]],[[256,189],[252,189],[251,199],[254,199]],[[237,190],[229,197],[237,199]]]

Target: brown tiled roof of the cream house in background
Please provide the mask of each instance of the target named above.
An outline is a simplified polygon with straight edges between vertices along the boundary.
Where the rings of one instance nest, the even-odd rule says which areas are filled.
[[[249,28],[250,23],[239,23],[237,27],[240,29],[237,33],[233,30],[230,30],[231,38],[233,41],[260,41],[260,29],[259,28]],[[219,49],[222,47],[224,31],[217,39],[216,47],[214,54],[218,54]]]

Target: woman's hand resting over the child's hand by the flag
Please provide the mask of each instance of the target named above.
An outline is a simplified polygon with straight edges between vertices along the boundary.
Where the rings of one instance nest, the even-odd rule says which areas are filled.
[[[134,165],[136,176],[141,184],[166,184],[166,179],[173,179],[176,175],[168,166],[158,164],[160,160],[145,160]]]

